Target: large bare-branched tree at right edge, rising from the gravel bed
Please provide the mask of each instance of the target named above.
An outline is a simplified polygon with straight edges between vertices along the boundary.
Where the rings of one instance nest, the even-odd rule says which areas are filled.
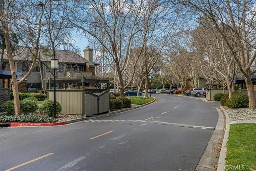
[[[184,6],[192,9],[195,15],[204,15],[209,18],[218,33],[232,53],[232,58],[237,62],[238,67],[245,78],[249,96],[249,108],[256,109],[256,96],[251,81],[251,76],[256,70],[252,69],[256,58],[255,46],[255,7],[254,1],[237,0],[225,1],[180,1]],[[234,35],[232,44],[230,37],[226,35],[224,27],[229,27]],[[238,49],[238,54],[236,53]]]

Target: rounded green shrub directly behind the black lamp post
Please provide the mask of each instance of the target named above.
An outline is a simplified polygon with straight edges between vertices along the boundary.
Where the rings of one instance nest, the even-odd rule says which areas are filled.
[[[58,101],[56,101],[56,114],[60,114],[62,107]],[[53,100],[44,101],[39,107],[40,113],[45,113],[48,116],[53,116]]]

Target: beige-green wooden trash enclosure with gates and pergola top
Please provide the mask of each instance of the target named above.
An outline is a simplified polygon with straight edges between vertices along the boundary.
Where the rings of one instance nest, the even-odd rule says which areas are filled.
[[[56,89],[56,101],[62,106],[62,114],[94,115],[109,111],[108,83],[111,78],[82,77],[82,78],[56,78],[58,84],[78,84],[82,89]],[[48,79],[51,84],[53,80]],[[86,83],[107,83],[106,88],[85,87]],[[80,85],[81,84],[81,85]],[[98,86],[99,87],[99,86]],[[89,89],[88,89],[89,88]],[[47,90],[48,99],[53,99],[54,90]]]

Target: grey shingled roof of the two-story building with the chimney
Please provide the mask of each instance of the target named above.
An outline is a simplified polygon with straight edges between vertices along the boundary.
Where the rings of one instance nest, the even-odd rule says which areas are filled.
[[[20,48],[20,49],[22,49],[22,48]],[[71,51],[71,50],[55,50],[55,53],[56,53],[56,59],[58,59],[59,62],[70,63],[70,64],[86,63],[91,66],[99,65],[94,62],[90,62],[90,61],[86,60],[80,54],[77,54],[76,52]],[[52,56],[50,56],[51,54],[52,54],[52,50],[49,50],[48,52],[43,52],[43,50],[41,49],[38,56],[42,61],[46,62],[46,61],[50,61],[52,59]],[[4,54],[4,59],[8,60],[8,57],[6,54]],[[31,53],[30,53],[29,49],[26,48],[22,52],[22,54],[15,56],[14,60],[32,60]]]

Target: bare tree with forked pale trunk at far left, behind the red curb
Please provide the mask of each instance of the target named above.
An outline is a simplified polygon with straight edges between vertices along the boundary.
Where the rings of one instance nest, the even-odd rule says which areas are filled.
[[[8,0],[8,1],[1,2],[0,4],[0,23],[2,28],[1,32],[4,35],[6,54],[8,56],[10,70],[12,73],[11,83],[12,83],[12,90],[14,95],[15,115],[20,115],[18,84],[20,84],[26,78],[28,78],[28,76],[33,70],[34,64],[36,63],[36,58],[38,56],[38,46],[39,46],[40,32],[42,28],[41,20],[42,20],[42,16],[43,16],[44,9],[47,2],[48,1],[45,0],[44,3],[42,3],[42,6],[38,4],[38,1],[24,1],[24,0],[22,1]],[[14,57],[21,54],[24,48],[17,54],[14,54],[14,52],[12,52],[10,33],[13,32],[18,27],[24,28],[26,26],[28,26],[28,30],[25,33],[27,35],[26,38],[29,38],[30,34],[36,34],[36,39],[34,41],[36,46],[35,56],[28,73],[18,81],[16,78]]]

